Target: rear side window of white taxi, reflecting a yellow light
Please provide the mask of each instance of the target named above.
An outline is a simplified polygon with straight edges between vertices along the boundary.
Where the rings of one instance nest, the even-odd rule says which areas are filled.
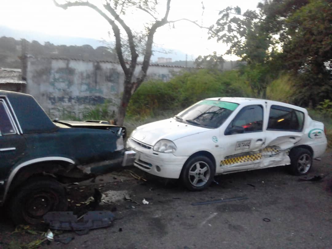
[[[303,123],[303,112],[284,106],[272,105],[267,129],[278,131],[302,131]]]

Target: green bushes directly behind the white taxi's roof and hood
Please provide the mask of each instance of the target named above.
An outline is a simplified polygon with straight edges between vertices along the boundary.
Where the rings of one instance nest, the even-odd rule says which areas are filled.
[[[130,99],[127,117],[153,117],[165,111],[174,115],[201,99],[224,96],[253,97],[254,94],[237,71],[185,71],[169,82],[144,82]]]

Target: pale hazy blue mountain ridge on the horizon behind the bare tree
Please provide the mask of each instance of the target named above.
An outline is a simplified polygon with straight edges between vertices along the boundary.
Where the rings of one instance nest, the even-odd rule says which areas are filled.
[[[94,49],[100,46],[105,46],[101,40],[96,40],[92,38],[83,38],[83,37],[67,37],[67,36],[54,36],[48,35],[37,31],[28,31],[28,30],[17,30],[12,29],[6,26],[0,26],[0,37],[12,37],[16,40],[25,39],[29,42],[38,41],[40,44],[45,42],[52,43],[54,45],[67,45],[67,46],[82,46],[90,45]],[[112,43],[112,41],[110,42]],[[172,61],[184,61],[186,60],[186,53],[180,50],[169,50],[167,48],[153,48],[155,52],[151,57],[152,62],[156,62],[158,57],[167,57],[172,58]],[[170,53],[160,53],[156,51],[170,51]]]

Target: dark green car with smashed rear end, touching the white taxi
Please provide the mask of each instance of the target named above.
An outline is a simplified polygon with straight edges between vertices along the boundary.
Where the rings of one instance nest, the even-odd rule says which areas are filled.
[[[0,90],[0,205],[15,223],[65,210],[64,183],[132,164],[124,136],[121,126],[52,121],[31,95]]]

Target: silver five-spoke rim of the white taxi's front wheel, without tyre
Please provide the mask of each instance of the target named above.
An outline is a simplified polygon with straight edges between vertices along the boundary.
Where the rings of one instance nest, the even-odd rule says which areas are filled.
[[[195,187],[202,187],[210,178],[210,167],[206,162],[196,162],[189,169],[189,181]]]

